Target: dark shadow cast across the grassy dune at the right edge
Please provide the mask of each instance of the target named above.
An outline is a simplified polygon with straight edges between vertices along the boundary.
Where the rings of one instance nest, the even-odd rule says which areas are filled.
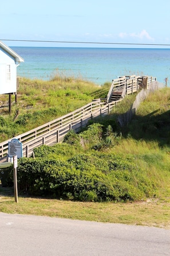
[[[101,125],[112,125],[113,131],[122,134],[122,137],[129,136],[136,140],[157,141],[159,146],[170,147],[170,110],[158,114],[160,109],[145,116],[134,115],[124,127],[118,125],[120,113],[111,113],[102,118],[94,118],[89,124],[95,122]],[[86,128],[84,129],[86,130]]]

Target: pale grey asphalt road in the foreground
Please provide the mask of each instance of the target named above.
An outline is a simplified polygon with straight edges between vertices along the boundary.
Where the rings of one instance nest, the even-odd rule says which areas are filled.
[[[170,255],[170,230],[3,214],[0,255]]]

